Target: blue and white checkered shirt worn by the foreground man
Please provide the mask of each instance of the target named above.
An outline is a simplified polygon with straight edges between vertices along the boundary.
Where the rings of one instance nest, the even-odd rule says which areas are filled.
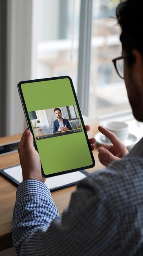
[[[44,183],[22,182],[12,236],[20,256],[143,256],[143,139],[80,181],[62,216]]]

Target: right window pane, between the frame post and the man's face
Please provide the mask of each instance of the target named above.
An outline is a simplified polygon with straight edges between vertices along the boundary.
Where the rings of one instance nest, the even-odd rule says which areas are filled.
[[[111,61],[121,56],[120,27],[114,18],[118,3],[119,0],[93,0],[90,115],[130,111],[124,81]]]

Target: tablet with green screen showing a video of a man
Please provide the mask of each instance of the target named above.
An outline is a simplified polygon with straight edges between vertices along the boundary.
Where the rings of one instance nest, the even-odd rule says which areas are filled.
[[[44,177],[95,166],[69,76],[21,81],[18,92]]]

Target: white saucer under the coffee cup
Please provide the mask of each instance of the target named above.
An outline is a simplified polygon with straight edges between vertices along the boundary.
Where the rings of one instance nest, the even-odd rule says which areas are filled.
[[[98,144],[107,144],[106,137],[101,132],[95,134],[95,139]],[[124,145],[127,148],[132,148],[138,141],[139,138],[137,138],[134,134],[129,133],[128,139],[125,140]]]

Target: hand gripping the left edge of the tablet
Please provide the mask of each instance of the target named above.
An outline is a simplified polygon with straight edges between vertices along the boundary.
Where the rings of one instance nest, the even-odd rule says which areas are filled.
[[[20,164],[22,167],[23,181],[35,179],[45,182],[42,177],[40,156],[33,146],[33,136],[29,130],[25,130],[18,146]]]

